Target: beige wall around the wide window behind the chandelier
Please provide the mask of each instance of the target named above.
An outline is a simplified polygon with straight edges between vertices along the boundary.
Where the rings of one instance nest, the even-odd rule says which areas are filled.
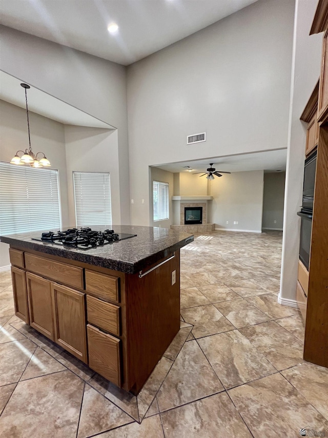
[[[67,176],[64,125],[29,111],[31,146],[42,151],[58,169],[61,219],[68,222]],[[9,162],[19,149],[29,148],[26,110],[0,100],[0,160]],[[42,169],[40,169],[42,172]],[[0,268],[9,265],[6,243],[0,243]]]

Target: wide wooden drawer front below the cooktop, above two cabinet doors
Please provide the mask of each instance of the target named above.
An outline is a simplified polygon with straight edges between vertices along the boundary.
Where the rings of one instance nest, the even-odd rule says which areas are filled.
[[[83,289],[83,268],[25,253],[26,269],[51,280]]]

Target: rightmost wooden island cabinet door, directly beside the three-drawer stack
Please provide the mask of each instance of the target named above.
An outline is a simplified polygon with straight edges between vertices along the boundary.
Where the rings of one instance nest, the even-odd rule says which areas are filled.
[[[85,294],[51,283],[55,342],[88,363]]]

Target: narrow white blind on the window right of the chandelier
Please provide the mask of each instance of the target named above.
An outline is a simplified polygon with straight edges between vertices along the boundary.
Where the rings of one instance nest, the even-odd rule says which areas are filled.
[[[73,172],[76,226],[112,223],[108,173]]]

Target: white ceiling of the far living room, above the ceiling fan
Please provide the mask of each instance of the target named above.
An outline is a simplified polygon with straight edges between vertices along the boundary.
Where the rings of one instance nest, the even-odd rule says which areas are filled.
[[[168,172],[206,172],[210,167],[210,163],[214,163],[213,167],[216,170],[224,172],[248,172],[251,170],[264,170],[264,173],[277,172],[277,170],[285,171],[286,169],[287,149],[269,150],[264,152],[256,152],[252,154],[230,155],[226,157],[207,158],[204,160],[183,161],[179,163],[170,163],[156,165]],[[190,166],[191,169],[185,169],[184,166]]]

